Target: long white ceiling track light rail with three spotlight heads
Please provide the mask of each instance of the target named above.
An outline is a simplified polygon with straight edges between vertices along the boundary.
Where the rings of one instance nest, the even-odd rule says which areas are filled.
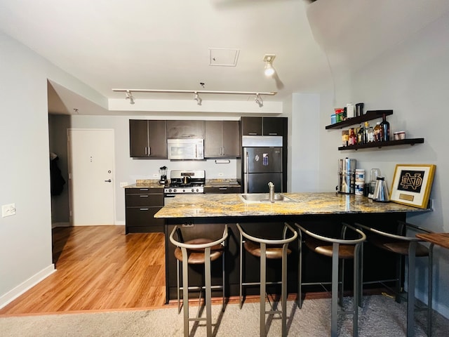
[[[210,90],[161,90],[161,89],[112,89],[115,92],[122,92],[126,94],[126,99],[130,100],[131,104],[134,104],[133,93],[193,93],[194,100],[201,105],[203,100],[199,97],[200,93],[204,94],[217,94],[217,95],[255,95],[257,99],[257,104],[260,107],[263,105],[262,95],[276,95],[276,91],[269,91],[265,93],[258,93],[257,91],[210,91]],[[262,105],[260,105],[260,103]]]

